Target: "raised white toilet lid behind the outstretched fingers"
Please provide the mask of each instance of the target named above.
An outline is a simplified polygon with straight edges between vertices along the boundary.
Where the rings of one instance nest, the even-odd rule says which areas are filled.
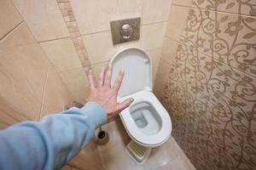
[[[152,89],[151,61],[143,49],[125,48],[113,56],[110,64],[113,66],[112,85],[119,71],[125,71],[125,77],[119,89],[119,98],[144,89]]]

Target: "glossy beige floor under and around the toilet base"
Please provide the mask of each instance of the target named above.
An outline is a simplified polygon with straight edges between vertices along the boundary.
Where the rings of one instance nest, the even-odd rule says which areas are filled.
[[[118,119],[102,127],[109,134],[108,144],[98,146],[106,170],[195,170],[176,141],[170,137],[165,144],[154,148],[143,165],[137,165],[125,152],[130,137]]]

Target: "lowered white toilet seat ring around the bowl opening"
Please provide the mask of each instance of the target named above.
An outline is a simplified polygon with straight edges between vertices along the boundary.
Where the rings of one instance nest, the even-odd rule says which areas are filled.
[[[142,144],[148,147],[159,146],[166,142],[170,137],[172,132],[172,122],[170,116],[163,105],[160,104],[160,101],[154,96],[154,94],[148,90],[143,90],[137,92],[136,94],[131,94],[127,98],[133,98],[134,103],[131,104],[128,108],[122,111],[119,116],[125,125],[125,129],[131,139],[134,139],[138,144]],[[131,117],[130,108],[132,105],[136,105],[138,102],[148,102],[151,104],[157,114],[160,115],[161,127],[160,131],[155,134],[145,134],[138,130],[138,127]]]

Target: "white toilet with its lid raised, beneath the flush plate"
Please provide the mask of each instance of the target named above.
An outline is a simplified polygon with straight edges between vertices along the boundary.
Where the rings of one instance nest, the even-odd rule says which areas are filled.
[[[172,133],[168,112],[152,92],[152,65],[141,48],[125,48],[110,60],[113,66],[112,85],[119,71],[125,71],[118,101],[133,98],[132,104],[119,116],[126,132],[137,144],[153,148],[164,144]]]

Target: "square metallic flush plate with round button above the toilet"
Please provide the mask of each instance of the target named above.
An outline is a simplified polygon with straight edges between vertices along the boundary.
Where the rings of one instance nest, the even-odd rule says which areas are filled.
[[[113,44],[139,40],[140,26],[141,18],[110,21]]]

